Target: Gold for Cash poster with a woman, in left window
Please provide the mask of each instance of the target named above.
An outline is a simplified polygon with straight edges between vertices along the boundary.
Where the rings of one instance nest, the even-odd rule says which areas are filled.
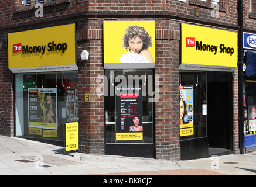
[[[57,88],[28,88],[29,127],[57,129]]]

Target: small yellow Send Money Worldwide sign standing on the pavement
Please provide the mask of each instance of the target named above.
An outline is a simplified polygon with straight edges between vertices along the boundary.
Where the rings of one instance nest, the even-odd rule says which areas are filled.
[[[66,123],[66,151],[78,150],[78,122]]]

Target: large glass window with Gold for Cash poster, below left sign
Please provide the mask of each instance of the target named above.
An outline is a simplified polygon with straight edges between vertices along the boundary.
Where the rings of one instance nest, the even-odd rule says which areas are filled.
[[[78,71],[15,74],[16,136],[64,140],[78,121]]]

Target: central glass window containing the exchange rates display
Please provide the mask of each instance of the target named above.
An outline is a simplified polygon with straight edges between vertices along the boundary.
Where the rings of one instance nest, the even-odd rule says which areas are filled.
[[[152,74],[152,70],[105,70],[106,143],[153,143]]]

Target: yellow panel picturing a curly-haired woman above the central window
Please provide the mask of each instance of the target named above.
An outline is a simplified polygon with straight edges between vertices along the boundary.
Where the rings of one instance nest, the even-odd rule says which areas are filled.
[[[155,22],[105,21],[104,68],[154,68]]]

